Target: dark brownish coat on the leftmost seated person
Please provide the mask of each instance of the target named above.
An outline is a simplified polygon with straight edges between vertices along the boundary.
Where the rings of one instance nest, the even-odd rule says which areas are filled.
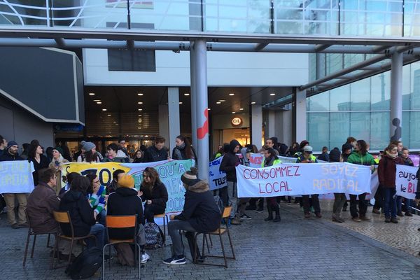
[[[55,190],[46,183],[39,183],[28,197],[27,214],[31,228],[36,233],[56,232],[59,225],[52,211],[58,211],[59,198]]]

